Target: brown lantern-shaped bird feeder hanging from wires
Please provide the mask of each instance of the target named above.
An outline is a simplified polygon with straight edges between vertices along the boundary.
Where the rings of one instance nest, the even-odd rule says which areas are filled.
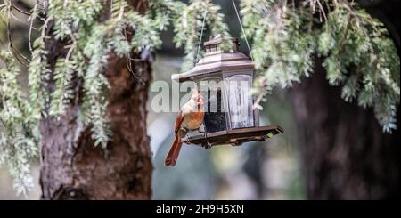
[[[203,121],[205,133],[186,136],[182,141],[205,148],[223,144],[237,146],[247,141],[265,141],[283,133],[279,125],[259,126],[258,109],[253,109],[254,100],[250,94],[254,64],[238,51],[239,43],[235,38],[228,39],[233,44],[232,52],[222,52],[223,40],[217,36],[205,42],[206,53],[195,67],[171,77],[180,83],[195,82],[208,100]],[[203,92],[205,84],[208,85],[206,93]]]

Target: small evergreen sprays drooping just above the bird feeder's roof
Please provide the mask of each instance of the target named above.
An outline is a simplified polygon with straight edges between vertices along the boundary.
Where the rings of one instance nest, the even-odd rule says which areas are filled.
[[[198,58],[203,20],[204,31],[209,31],[210,36],[230,36],[224,15],[219,12],[220,6],[211,3],[211,0],[191,0],[189,5],[171,0],[154,0],[151,1],[151,9],[160,29],[165,29],[170,23],[174,26],[176,47],[184,46],[183,72],[191,69]],[[223,49],[229,49],[228,41],[223,44]]]

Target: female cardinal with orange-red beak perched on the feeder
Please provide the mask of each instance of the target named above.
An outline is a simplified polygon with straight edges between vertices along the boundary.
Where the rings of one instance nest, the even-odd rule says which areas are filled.
[[[176,165],[176,159],[183,145],[181,139],[184,138],[186,133],[198,130],[201,127],[205,115],[201,109],[202,105],[203,99],[201,93],[193,89],[191,99],[183,105],[178,113],[178,117],[176,117],[176,124],[174,125],[176,137],[164,162],[166,166]]]

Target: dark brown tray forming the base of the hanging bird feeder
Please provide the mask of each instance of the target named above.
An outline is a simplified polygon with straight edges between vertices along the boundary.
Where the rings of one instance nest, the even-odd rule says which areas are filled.
[[[267,125],[187,136],[181,141],[209,149],[217,145],[231,144],[239,146],[249,141],[265,141],[279,133],[284,133],[282,127],[279,125]]]

